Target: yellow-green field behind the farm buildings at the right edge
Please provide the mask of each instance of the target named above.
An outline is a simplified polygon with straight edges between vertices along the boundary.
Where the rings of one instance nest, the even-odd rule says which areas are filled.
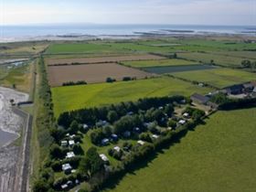
[[[194,70],[187,72],[176,72],[172,75],[187,79],[206,82],[218,88],[223,88],[232,84],[256,80],[254,73],[238,70],[238,69],[206,69]]]

